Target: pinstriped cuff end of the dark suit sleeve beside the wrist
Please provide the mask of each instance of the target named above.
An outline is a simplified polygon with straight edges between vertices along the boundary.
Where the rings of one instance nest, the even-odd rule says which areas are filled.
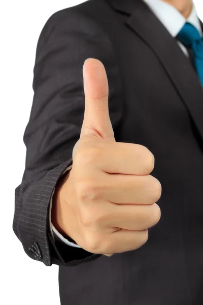
[[[13,230],[22,242],[25,253],[33,258],[29,247],[38,242],[42,260],[51,265],[50,241],[47,236],[49,228],[49,204],[52,191],[61,173],[72,163],[72,159],[50,170],[36,182],[28,194],[21,193],[21,186],[15,190],[15,215]]]

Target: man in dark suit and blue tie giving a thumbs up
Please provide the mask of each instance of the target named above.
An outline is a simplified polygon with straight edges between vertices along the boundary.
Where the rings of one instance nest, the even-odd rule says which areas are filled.
[[[90,0],[43,27],[13,229],[59,265],[62,305],[203,303],[202,28],[190,0]]]

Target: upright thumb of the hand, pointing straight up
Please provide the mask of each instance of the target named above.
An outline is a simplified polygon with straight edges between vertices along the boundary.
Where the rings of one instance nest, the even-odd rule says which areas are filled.
[[[83,65],[85,113],[81,137],[93,135],[106,141],[115,141],[109,117],[109,86],[104,65],[88,58]]]

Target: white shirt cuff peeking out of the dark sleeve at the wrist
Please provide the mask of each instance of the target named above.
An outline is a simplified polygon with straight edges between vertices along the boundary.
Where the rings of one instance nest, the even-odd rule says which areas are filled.
[[[66,171],[70,170],[72,168],[72,164],[67,167],[61,175],[63,175]],[[49,208],[49,227],[50,227],[50,232],[51,232],[51,235],[53,237],[54,240],[59,240],[63,243],[65,243],[66,245],[68,246],[71,246],[71,247],[76,247],[76,248],[81,248],[79,245],[77,245],[76,243],[74,242],[71,242],[69,241],[67,238],[64,238],[57,230],[56,228],[52,225],[51,223],[51,210],[52,210],[52,201],[53,201],[53,194],[54,194],[54,191],[55,191],[55,188],[53,189],[53,192],[51,194],[51,199],[50,199],[50,208]]]

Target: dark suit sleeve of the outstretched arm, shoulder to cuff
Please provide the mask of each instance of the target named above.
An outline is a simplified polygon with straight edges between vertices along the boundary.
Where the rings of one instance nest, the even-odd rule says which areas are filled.
[[[13,230],[25,253],[45,265],[78,264],[100,255],[54,240],[49,227],[50,199],[72,163],[84,117],[82,67],[94,57],[109,79],[113,128],[122,118],[119,71],[113,46],[95,22],[73,8],[54,13],[40,34],[33,68],[33,101],[23,141],[25,169],[15,189]]]

